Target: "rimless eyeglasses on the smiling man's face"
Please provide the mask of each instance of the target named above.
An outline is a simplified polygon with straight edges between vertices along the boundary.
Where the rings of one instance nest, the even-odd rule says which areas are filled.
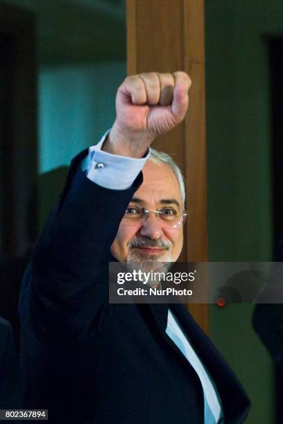
[[[155,217],[164,228],[180,227],[181,224],[185,224],[188,215],[185,211],[180,213],[168,206],[157,209],[157,211],[147,211],[141,206],[128,206],[123,215],[121,224],[132,226],[144,224],[150,212],[155,214]]]

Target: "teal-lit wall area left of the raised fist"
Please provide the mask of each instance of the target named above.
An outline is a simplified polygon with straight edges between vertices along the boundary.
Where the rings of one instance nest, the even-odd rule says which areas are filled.
[[[99,141],[114,122],[116,91],[125,77],[125,61],[41,67],[40,173],[68,165]]]

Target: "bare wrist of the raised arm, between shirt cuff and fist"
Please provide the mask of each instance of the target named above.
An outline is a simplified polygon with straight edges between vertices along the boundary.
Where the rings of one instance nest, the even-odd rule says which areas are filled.
[[[154,139],[154,134],[123,130],[115,121],[101,150],[119,156],[139,159],[144,157]]]

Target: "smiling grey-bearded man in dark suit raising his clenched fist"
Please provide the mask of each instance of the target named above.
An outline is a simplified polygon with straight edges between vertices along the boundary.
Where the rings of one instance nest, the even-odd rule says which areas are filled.
[[[73,159],[26,271],[24,396],[28,408],[49,408],[52,423],[246,418],[246,394],[184,306],[108,302],[111,260],[146,265],[180,255],[182,179],[148,149],[185,117],[190,84],[183,72],[126,78],[110,133],[89,157]]]

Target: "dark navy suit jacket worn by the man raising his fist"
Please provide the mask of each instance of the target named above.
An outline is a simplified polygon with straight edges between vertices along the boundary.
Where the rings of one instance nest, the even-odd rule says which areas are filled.
[[[168,305],[108,303],[110,245],[142,182],[114,191],[72,164],[26,271],[20,299],[21,367],[28,408],[51,423],[203,423],[203,390],[166,335]],[[249,401],[184,306],[171,305],[223,402],[243,423]]]

